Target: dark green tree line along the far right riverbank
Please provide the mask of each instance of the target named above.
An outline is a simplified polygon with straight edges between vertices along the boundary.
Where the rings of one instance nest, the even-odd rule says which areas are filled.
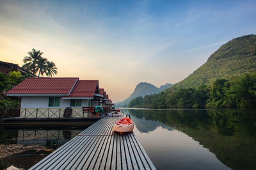
[[[129,108],[234,108],[256,107],[256,72],[230,80],[219,79],[196,88],[170,88],[159,94],[136,97]]]

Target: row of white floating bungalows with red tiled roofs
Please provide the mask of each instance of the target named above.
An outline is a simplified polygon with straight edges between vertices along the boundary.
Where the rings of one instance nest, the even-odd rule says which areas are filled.
[[[104,89],[99,89],[99,80],[79,78],[27,78],[6,95],[20,97],[22,118],[61,118],[67,110],[69,117],[91,117],[83,108],[101,106],[108,113],[113,105]]]

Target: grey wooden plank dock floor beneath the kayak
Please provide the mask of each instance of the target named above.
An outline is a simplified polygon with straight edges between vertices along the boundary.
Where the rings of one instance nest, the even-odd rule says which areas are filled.
[[[156,169],[134,132],[120,135],[104,117],[30,169]]]

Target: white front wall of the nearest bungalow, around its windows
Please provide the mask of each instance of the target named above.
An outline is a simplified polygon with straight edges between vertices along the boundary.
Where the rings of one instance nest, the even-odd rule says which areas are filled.
[[[67,108],[70,107],[70,99],[60,97],[60,107],[49,107],[48,104],[49,97],[47,96],[22,96],[20,108]],[[88,107],[88,99],[82,99],[81,105],[81,107]]]

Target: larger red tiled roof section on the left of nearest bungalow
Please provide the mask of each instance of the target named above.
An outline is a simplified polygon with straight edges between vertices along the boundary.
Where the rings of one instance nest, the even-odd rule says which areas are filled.
[[[6,94],[66,94],[79,78],[27,78]]]

